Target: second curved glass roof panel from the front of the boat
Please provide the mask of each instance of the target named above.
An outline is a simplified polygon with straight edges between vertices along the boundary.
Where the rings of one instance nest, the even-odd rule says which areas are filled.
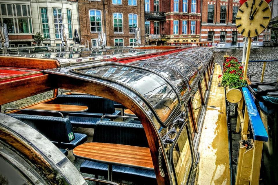
[[[133,63],[132,65],[145,67],[151,70],[154,70],[164,77],[168,78],[172,83],[179,89],[179,92],[181,93],[181,96],[183,96],[186,91],[188,90],[187,85],[183,77],[174,69],[166,66],[166,65],[159,65],[149,62],[138,62]]]

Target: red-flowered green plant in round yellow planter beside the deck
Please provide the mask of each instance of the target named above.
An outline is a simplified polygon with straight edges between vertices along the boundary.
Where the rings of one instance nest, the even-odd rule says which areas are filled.
[[[223,64],[223,75],[221,85],[226,87],[226,98],[231,103],[236,103],[241,100],[242,94],[239,88],[247,85],[246,80],[243,80],[243,66],[237,58],[228,57]]]

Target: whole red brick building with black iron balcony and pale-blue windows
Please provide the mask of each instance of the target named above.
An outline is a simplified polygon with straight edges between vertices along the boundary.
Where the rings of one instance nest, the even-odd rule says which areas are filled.
[[[145,17],[146,40],[152,44],[200,39],[200,0],[145,0]]]

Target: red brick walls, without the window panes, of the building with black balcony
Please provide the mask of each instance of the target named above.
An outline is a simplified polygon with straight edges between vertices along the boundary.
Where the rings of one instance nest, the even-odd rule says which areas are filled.
[[[159,1],[159,11],[165,12],[165,19],[159,23],[159,34],[161,35],[161,41],[165,42],[198,42],[200,39],[201,31],[201,1],[196,0],[195,12],[191,12],[191,4],[194,0],[178,0],[178,10],[174,12],[174,0]],[[183,10],[183,2],[186,2],[186,11]],[[150,11],[153,11],[154,0],[150,0]],[[146,10],[145,10],[146,11]],[[150,21],[150,34],[154,34],[154,20],[148,19],[146,15],[146,21]],[[174,21],[176,24],[177,32],[174,33]],[[176,22],[177,21],[177,22]],[[183,21],[186,32],[183,33]],[[191,21],[195,21],[195,33],[191,33]],[[194,27],[192,27],[194,28]],[[148,35],[146,36],[148,40]],[[150,39],[150,42],[152,39]],[[156,40],[155,40],[156,41]]]

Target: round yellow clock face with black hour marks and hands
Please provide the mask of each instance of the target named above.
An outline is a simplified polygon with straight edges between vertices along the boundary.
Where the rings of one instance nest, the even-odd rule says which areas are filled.
[[[270,19],[271,11],[266,1],[248,0],[237,12],[237,30],[245,37],[254,37],[266,29]]]

